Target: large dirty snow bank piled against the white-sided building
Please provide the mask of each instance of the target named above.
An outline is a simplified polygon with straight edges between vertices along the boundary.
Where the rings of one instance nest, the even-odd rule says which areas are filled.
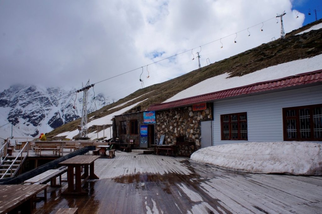
[[[206,147],[191,160],[249,173],[322,175],[322,144],[247,142]]]

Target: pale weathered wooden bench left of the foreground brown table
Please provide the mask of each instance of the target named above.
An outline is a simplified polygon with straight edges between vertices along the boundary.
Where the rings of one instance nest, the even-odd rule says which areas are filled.
[[[51,187],[61,187],[62,186],[62,174],[65,172],[67,172],[66,166],[59,167],[58,169],[50,169],[50,170],[47,170],[46,172],[43,172],[33,178],[30,178],[30,179],[24,181],[24,183],[46,184],[50,181]],[[60,182],[59,185],[56,184],[57,176],[59,176],[59,182]]]

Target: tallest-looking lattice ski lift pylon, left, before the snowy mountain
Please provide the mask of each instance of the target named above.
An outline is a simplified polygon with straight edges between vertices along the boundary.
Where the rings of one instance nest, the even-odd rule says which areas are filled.
[[[88,99],[88,90],[90,89],[90,87],[94,87],[94,84],[90,85],[90,80],[88,80],[88,82],[86,83],[85,86],[83,86],[83,88],[81,88],[80,90],[77,90],[77,92],[81,92],[83,91],[83,109],[82,109],[82,113],[81,113],[81,126],[79,127],[79,134],[78,137],[79,138],[87,138],[87,99]]]

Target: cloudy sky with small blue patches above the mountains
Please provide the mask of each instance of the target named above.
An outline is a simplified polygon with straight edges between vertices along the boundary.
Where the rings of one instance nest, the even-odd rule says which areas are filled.
[[[289,32],[315,21],[313,9],[319,4],[318,0],[3,0],[0,89],[22,83],[68,90],[90,80],[97,83],[96,93],[120,99],[142,87],[140,77],[148,86],[197,69],[196,52],[203,67],[278,39],[277,13],[285,10],[284,29]]]

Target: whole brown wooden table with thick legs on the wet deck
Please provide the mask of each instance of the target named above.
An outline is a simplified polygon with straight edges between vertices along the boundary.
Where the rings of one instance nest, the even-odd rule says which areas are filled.
[[[60,165],[67,166],[67,182],[68,187],[63,192],[64,194],[84,194],[87,193],[81,188],[81,184],[86,182],[87,179],[99,179],[94,174],[94,161],[99,156],[78,155],[60,162]],[[81,167],[84,166],[84,174],[81,175]],[[74,189],[74,168],[75,168],[75,189]],[[90,170],[89,170],[90,168]],[[90,171],[90,174],[89,174]],[[81,179],[84,179],[83,182]]]

